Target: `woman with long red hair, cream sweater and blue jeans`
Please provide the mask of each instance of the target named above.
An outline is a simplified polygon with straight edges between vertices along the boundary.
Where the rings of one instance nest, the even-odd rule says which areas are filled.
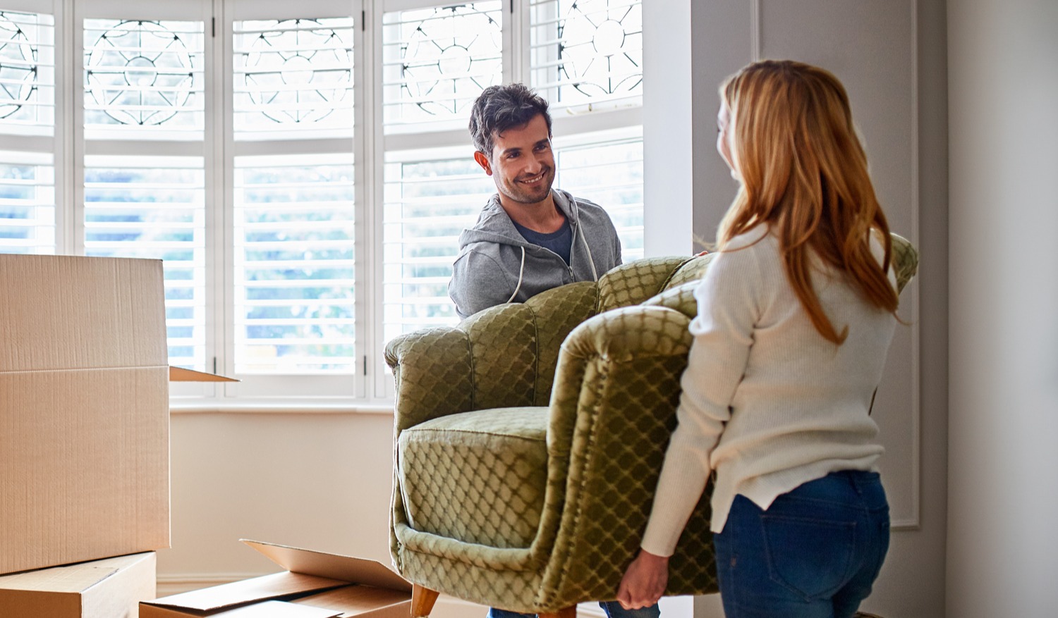
[[[618,591],[657,601],[711,472],[728,618],[847,618],[889,547],[870,417],[896,324],[886,217],[831,73],[754,62],[720,88],[740,182],[695,297],[694,341],[641,550]]]

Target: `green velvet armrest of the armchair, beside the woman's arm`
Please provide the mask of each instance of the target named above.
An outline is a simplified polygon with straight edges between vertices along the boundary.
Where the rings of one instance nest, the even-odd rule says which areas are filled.
[[[692,340],[689,323],[669,307],[630,306],[587,320],[563,343],[548,426],[544,511],[545,518],[562,518],[551,563],[563,566],[548,569],[545,589],[562,597],[571,585],[567,574],[577,574],[577,585],[590,588],[585,598],[616,595],[614,582],[638,550],[676,426],[679,379]],[[691,581],[675,567],[694,561],[710,565],[709,517],[704,498],[673,559],[668,594],[711,589],[708,577]],[[547,527],[542,522],[541,529]],[[682,573],[698,574],[701,567]]]

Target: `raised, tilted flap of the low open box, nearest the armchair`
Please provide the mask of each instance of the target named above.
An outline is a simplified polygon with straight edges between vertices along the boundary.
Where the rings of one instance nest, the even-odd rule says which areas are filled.
[[[381,562],[240,539],[292,573],[304,573],[381,588],[412,592],[412,584]]]

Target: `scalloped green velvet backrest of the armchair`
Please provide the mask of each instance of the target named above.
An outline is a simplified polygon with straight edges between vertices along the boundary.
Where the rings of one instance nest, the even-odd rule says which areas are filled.
[[[507,406],[547,406],[562,341],[581,322],[621,306],[654,304],[668,306],[693,318],[697,315],[694,288],[715,254],[692,258],[647,258],[622,264],[597,283],[571,283],[539,294],[522,304],[501,304],[475,314],[455,327],[434,329],[402,336],[386,350],[389,366],[398,372],[401,362],[418,362],[430,383],[417,383],[404,393],[417,414],[431,417],[433,407],[451,412]],[[893,235],[893,267],[900,289],[914,276],[918,258],[914,247]],[[466,344],[438,345],[441,340]],[[444,358],[432,354],[406,354],[420,350],[443,350]],[[403,359],[403,360],[401,360]],[[417,374],[420,375],[420,374]],[[400,376],[398,374],[398,385]],[[400,389],[398,389],[400,391]],[[405,423],[402,422],[402,423]]]

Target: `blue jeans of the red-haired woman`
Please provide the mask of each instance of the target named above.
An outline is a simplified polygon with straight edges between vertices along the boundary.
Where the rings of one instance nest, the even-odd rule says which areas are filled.
[[[766,511],[736,495],[713,544],[727,618],[852,618],[889,550],[889,503],[876,472],[832,472]]]

